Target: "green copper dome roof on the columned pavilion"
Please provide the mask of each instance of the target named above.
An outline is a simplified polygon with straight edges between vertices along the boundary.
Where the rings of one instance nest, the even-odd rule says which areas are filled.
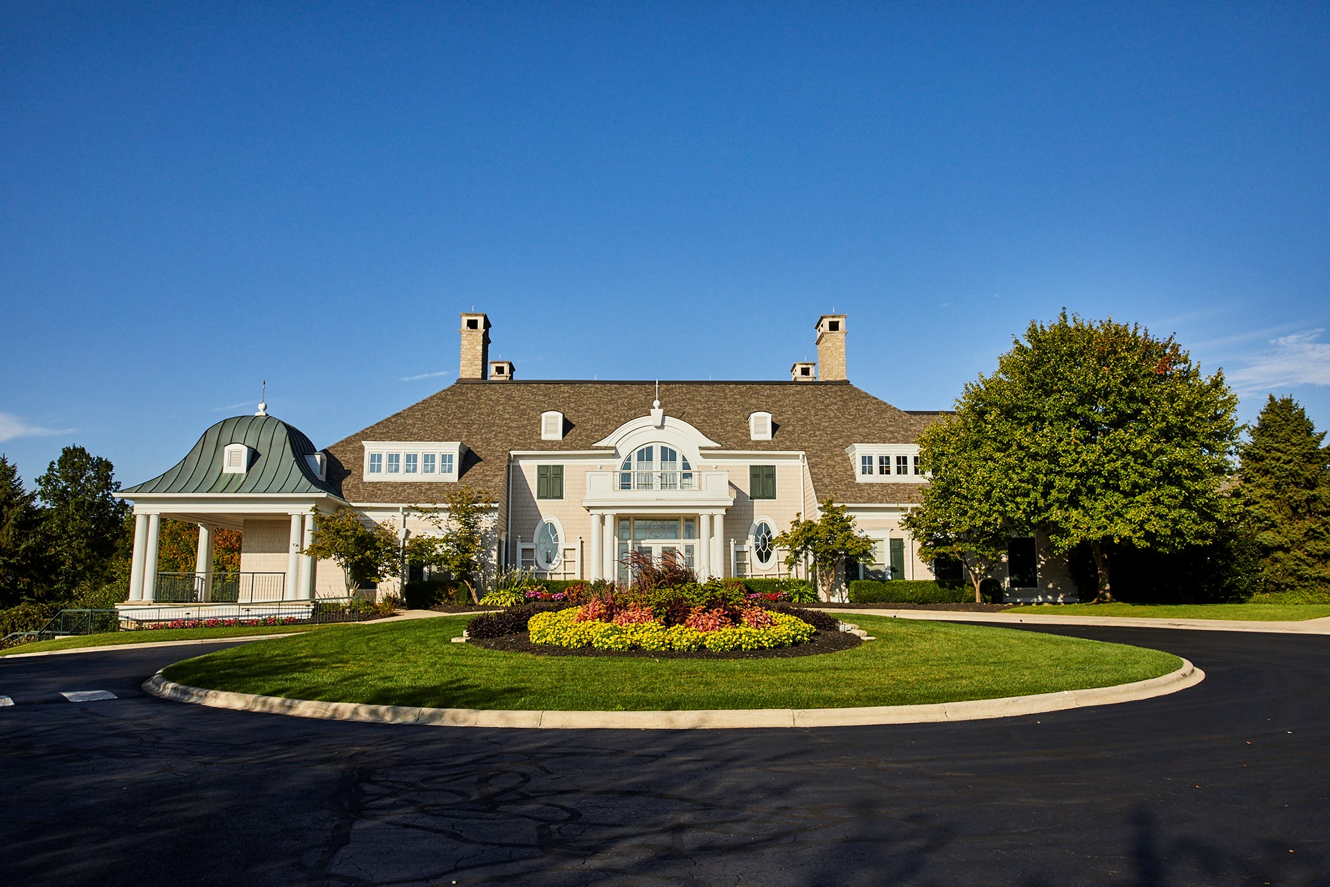
[[[249,469],[222,473],[226,444],[251,449]],[[318,452],[310,439],[273,416],[223,419],[203,432],[180,464],[152,480],[121,491],[134,493],[329,493],[336,491],[319,480],[306,456]]]

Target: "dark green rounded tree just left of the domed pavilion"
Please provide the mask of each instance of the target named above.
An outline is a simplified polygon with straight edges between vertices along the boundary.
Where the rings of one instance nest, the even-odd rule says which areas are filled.
[[[53,573],[45,597],[68,597],[101,582],[129,512],[113,495],[118,489],[110,460],[77,445],[65,447],[37,477]]]

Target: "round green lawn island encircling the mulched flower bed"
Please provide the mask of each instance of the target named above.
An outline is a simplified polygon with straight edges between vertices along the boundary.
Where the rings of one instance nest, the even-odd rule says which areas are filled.
[[[907,705],[1108,686],[1169,653],[987,625],[857,616],[879,640],[769,660],[501,653],[451,644],[467,617],[330,628],[177,662],[180,684],[301,699],[466,709],[677,710]]]

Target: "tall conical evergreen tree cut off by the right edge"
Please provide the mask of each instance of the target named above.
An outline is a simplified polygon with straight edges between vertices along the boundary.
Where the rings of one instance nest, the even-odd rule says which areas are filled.
[[[1242,445],[1240,497],[1262,592],[1330,592],[1330,447],[1293,398],[1270,395]]]

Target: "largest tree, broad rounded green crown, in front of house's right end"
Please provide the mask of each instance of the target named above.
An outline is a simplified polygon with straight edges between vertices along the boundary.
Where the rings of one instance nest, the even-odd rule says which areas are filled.
[[[920,443],[934,483],[964,472],[939,489],[974,480],[1008,532],[1040,529],[1055,553],[1087,544],[1096,600],[1113,600],[1116,547],[1181,551],[1228,524],[1236,408],[1224,374],[1202,375],[1172,338],[1063,311],[1032,322],[994,375],[966,386],[955,420],[970,430],[968,456],[942,456],[946,423]],[[923,508],[942,505],[942,493],[924,495]]]

